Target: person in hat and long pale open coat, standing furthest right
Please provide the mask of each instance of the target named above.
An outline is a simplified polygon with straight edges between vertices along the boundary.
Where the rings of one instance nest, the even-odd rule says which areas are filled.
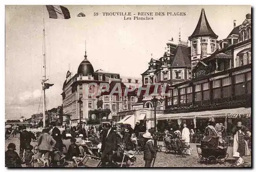
[[[236,131],[234,133],[234,131]],[[248,140],[251,136],[248,128],[242,125],[242,122],[239,121],[237,126],[232,129],[234,133],[233,140],[233,154],[239,152],[240,157],[249,156],[250,151],[248,148]]]

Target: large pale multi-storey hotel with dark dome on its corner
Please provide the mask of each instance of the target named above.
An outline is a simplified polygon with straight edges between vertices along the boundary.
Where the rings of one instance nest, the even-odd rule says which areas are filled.
[[[129,82],[131,79],[131,83]],[[126,82],[126,80],[124,80]],[[137,83],[138,82],[138,83]],[[89,87],[90,83],[96,83]],[[98,87],[101,83],[110,84],[110,90],[98,96]],[[94,71],[92,64],[84,56],[77,73],[72,75],[67,72],[66,80],[62,88],[63,102],[63,124],[76,126],[79,122],[96,124],[103,119],[111,119],[116,113],[122,110],[131,109],[131,104],[137,102],[137,96],[128,94],[127,96],[109,95],[115,84],[121,84],[122,91],[127,84],[139,84],[139,80],[127,78],[126,85],[121,82],[118,73],[104,71],[102,69]],[[87,93],[86,90],[89,90]]]

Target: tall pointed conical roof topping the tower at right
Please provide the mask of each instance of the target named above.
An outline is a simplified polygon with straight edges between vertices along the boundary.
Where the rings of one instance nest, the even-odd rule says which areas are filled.
[[[210,24],[206,18],[204,9],[202,8],[198,23],[197,23],[197,27],[195,29],[195,31],[193,32],[193,34],[191,36],[189,36],[189,40],[195,38],[195,37],[200,37],[202,35],[207,35],[207,36],[211,36],[214,38],[218,38],[218,35],[216,35],[214,33],[214,31],[212,31]]]

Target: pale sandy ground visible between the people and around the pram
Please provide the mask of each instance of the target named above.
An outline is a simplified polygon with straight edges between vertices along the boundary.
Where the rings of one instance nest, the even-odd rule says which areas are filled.
[[[7,150],[7,146],[11,142],[16,144],[16,152],[19,154],[19,136],[16,135],[16,137],[14,138],[11,137],[7,139],[5,144],[5,150]],[[36,145],[36,142],[31,142],[31,144],[34,146]],[[233,158],[231,157],[232,147],[228,147],[227,153],[229,154],[229,157],[225,164],[206,165],[205,163],[198,162],[199,158],[197,154],[196,144],[191,143],[190,145],[191,145],[191,148],[193,148],[194,150],[191,152],[192,155],[186,156],[186,157],[176,157],[173,154],[165,154],[164,152],[158,152],[154,167],[230,167],[231,166],[231,163],[233,160]],[[164,151],[164,148],[162,150]],[[135,156],[137,160],[135,164],[132,165],[131,167],[144,167],[145,161],[143,160],[143,154],[142,155],[136,154]],[[245,161],[244,166],[246,167],[251,166],[251,156],[244,157],[244,161]],[[38,164],[35,163],[34,166],[38,167]],[[73,167],[73,164],[67,163],[65,167]]]

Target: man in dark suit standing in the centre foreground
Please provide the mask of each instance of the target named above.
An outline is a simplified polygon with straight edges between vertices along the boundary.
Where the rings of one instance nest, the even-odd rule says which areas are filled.
[[[117,137],[116,132],[113,131],[110,124],[106,125],[105,132],[103,132],[102,138],[102,164],[105,165],[106,161],[108,161],[109,166],[113,166],[113,154],[117,151]]]

